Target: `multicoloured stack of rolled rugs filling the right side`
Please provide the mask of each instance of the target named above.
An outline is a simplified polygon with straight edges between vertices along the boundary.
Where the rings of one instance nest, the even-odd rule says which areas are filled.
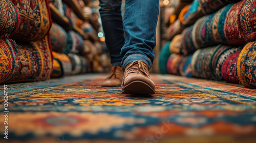
[[[182,67],[180,64],[193,54],[191,70],[187,70],[193,77],[225,80],[256,88],[255,9],[256,4],[252,0],[195,0],[185,13],[181,13],[182,22],[190,16],[187,23],[194,25],[185,28],[171,41],[171,55],[166,63],[168,73],[182,75],[182,70],[177,72],[177,66]],[[201,18],[195,18],[195,14]]]

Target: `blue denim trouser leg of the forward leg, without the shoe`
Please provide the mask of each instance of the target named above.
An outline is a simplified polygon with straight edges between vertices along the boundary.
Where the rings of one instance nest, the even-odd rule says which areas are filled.
[[[126,0],[123,17],[125,43],[121,54],[123,69],[142,60],[151,68],[155,55],[159,0]]]

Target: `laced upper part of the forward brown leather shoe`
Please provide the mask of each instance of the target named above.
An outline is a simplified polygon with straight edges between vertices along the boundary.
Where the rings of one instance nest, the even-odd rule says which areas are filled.
[[[148,73],[147,65],[141,61],[133,61],[127,67],[127,75],[132,73],[142,74],[146,77],[150,77],[150,73]]]

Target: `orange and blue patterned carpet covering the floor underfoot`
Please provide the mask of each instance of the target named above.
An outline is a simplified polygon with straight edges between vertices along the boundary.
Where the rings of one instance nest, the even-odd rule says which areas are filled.
[[[155,96],[101,87],[106,75],[8,84],[0,142],[254,142],[256,92],[215,81],[152,75]],[[4,97],[4,85],[1,85]]]

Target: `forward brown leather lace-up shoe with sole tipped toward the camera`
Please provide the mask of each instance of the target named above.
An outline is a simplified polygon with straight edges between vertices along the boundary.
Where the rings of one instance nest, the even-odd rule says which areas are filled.
[[[144,61],[134,61],[126,66],[122,89],[125,94],[155,94],[155,83]]]

